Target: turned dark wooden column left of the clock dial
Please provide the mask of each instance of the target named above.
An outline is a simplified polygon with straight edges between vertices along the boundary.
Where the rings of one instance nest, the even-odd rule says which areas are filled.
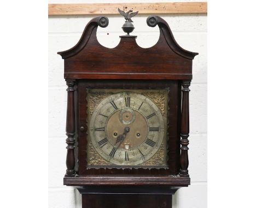
[[[75,79],[66,79],[67,88],[67,120],[66,120],[66,143],[67,143],[67,158],[66,158],[66,176],[74,176],[75,174],[75,112],[74,112],[74,85]]]

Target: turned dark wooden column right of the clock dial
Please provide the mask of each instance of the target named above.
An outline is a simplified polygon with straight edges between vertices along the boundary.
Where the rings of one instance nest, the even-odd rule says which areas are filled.
[[[189,176],[188,174],[188,144],[189,144],[189,86],[190,81],[182,81],[182,115],[181,115],[181,168],[179,175]]]

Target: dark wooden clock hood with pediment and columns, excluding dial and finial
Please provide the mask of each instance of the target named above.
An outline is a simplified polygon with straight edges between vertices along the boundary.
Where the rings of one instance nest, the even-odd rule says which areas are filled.
[[[107,27],[99,16],[85,27],[73,48],[58,52],[65,60],[67,99],[67,172],[64,184],[85,185],[167,185],[188,186],[189,85],[192,60],[198,53],[177,44],[168,24],[159,16],[149,16],[149,27],[159,26],[158,42],[139,47],[136,36],[120,36],[117,47],[107,48],[97,41],[97,27]],[[86,169],[85,88],[159,89],[169,88],[168,169]],[[182,98],[183,97],[183,98]]]

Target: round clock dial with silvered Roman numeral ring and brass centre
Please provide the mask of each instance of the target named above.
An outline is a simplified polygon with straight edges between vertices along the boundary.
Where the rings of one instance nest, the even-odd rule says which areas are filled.
[[[89,127],[95,150],[116,165],[146,162],[158,151],[165,135],[160,109],[148,97],[129,91],[102,100]]]

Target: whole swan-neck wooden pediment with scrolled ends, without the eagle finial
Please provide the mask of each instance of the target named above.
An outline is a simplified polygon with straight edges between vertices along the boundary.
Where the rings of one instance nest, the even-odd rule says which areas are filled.
[[[98,26],[108,26],[107,17],[92,19],[77,45],[58,52],[65,59],[65,78],[191,79],[192,60],[198,53],[179,46],[161,17],[150,16],[147,24],[149,27],[159,26],[160,36],[154,46],[139,47],[137,36],[123,35],[117,47],[107,48],[96,36]]]

